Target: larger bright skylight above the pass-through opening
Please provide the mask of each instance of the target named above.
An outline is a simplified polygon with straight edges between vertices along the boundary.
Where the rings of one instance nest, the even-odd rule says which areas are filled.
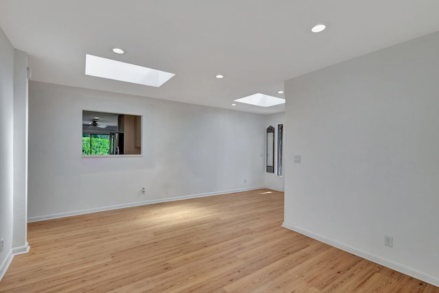
[[[175,74],[98,56],[85,56],[85,74],[145,86],[161,86]]]

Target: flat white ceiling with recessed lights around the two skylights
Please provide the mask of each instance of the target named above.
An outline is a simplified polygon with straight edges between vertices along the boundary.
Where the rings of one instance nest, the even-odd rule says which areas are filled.
[[[32,80],[269,114],[285,106],[230,104],[437,32],[438,12],[438,0],[0,0],[0,27],[29,54]],[[327,30],[312,34],[316,23]],[[94,78],[86,54],[176,76],[160,88]]]

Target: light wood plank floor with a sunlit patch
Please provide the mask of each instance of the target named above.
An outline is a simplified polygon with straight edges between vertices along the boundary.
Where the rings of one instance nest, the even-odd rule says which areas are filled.
[[[439,292],[281,227],[267,192],[29,224],[0,292]]]

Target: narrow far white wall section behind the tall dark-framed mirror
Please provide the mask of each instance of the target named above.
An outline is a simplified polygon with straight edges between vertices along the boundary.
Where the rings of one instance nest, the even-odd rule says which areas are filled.
[[[277,114],[265,116],[265,130],[270,125],[274,127],[274,173],[265,172],[265,187],[278,191],[283,191],[284,189],[283,176],[276,176],[278,124],[285,124],[285,113],[277,113]],[[283,128],[283,131],[284,131],[283,137],[285,139],[285,127]],[[285,150],[284,150],[284,154],[285,154]],[[283,171],[285,174],[285,156],[283,157],[283,167],[284,167]]]

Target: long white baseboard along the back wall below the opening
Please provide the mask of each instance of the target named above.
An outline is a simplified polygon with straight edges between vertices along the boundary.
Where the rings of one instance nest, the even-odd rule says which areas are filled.
[[[241,189],[233,189],[233,190],[226,190],[226,191],[207,192],[205,194],[191,194],[188,196],[176,196],[174,198],[158,198],[156,200],[145,200],[145,201],[141,201],[141,202],[129,202],[126,204],[115,204],[115,205],[107,206],[107,207],[97,207],[97,208],[93,208],[93,209],[82,209],[80,211],[68,211],[66,213],[54,213],[51,215],[37,215],[35,217],[27,218],[27,222],[29,222],[29,223],[39,222],[39,221],[45,221],[45,220],[71,217],[72,215],[84,215],[86,213],[96,213],[98,211],[110,211],[112,209],[124,209],[127,207],[138,207],[138,206],[146,205],[146,204],[156,204],[156,203],[160,203],[160,202],[173,202],[176,200],[188,200],[190,198],[202,198],[204,196],[219,196],[221,194],[232,194],[234,192],[250,191],[250,190],[262,189],[262,188],[265,188],[265,187],[250,187],[250,188],[241,188]]]

